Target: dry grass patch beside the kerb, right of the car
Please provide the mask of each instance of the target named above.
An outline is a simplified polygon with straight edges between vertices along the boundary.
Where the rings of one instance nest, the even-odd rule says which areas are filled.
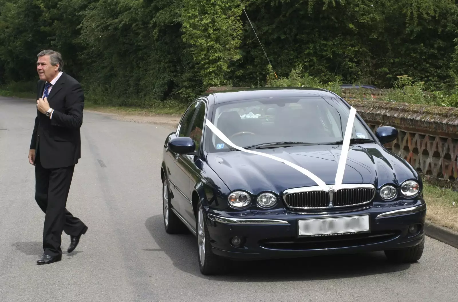
[[[458,231],[458,192],[424,184],[423,194],[428,209],[426,218],[437,225]]]

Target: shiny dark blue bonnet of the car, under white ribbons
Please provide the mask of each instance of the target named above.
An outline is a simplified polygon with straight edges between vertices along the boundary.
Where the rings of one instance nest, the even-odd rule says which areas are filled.
[[[294,146],[256,149],[285,159],[318,176],[327,185],[335,183],[342,145]],[[272,191],[281,194],[294,187],[316,186],[316,182],[277,160],[243,151],[209,153],[207,164],[229,190],[252,194]],[[350,146],[343,184],[368,183],[380,188],[386,183],[399,185],[416,178],[416,172],[403,159],[376,143]]]

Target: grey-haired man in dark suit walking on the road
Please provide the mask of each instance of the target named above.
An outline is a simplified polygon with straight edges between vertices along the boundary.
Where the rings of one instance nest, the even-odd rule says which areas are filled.
[[[68,253],[87,231],[87,226],[65,209],[73,171],[81,158],[84,93],[80,83],[62,71],[63,65],[58,52],[38,54],[37,117],[28,155],[35,166],[35,200],[45,213],[44,254],[37,264],[62,259],[62,231],[71,236]]]

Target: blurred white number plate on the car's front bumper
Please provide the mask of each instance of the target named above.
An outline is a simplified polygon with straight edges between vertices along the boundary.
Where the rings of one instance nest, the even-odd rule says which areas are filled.
[[[301,237],[349,235],[369,231],[369,215],[299,220]]]

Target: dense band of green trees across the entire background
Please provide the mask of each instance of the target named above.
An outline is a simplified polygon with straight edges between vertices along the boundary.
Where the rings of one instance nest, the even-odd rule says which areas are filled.
[[[4,0],[0,83],[35,81],[36,55],[49,48],[62,53],[88,99],[107,104],[188,102],[209,86],[264,86],[264,50],[279,77],[274,85],[288,79],[392,88],[408,75],[424,89],[451,91],[457,82],[455,0],[241,3]]]

